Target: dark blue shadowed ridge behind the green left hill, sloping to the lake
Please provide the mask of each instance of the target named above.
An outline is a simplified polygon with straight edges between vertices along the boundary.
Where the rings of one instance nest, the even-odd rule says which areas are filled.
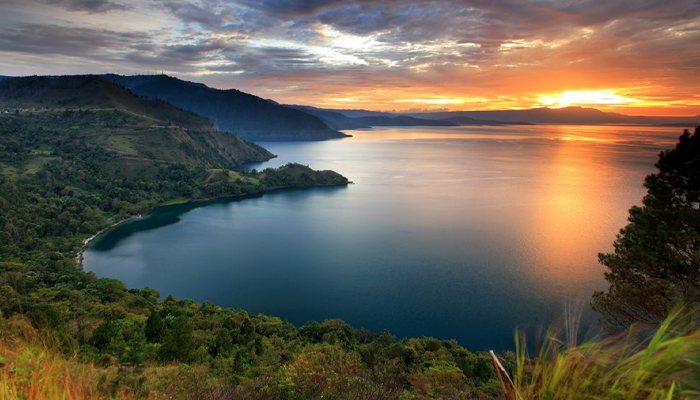
[[[307,112],[236,89],[220,90],[166,75],[106,77],[134,93],[203,115],[219,129],[254,141],[325,140],[346,137]]]

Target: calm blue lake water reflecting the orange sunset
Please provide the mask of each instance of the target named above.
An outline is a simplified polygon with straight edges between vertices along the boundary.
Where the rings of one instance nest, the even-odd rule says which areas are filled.
[[[355,184],[167,207],[100,237],[85,267],[296,325],[342,318],[513,348],[514,328],[546,325],[607,287],[597,254],[681,132],[390,128],[264,143],[279,157],[256,168],[299,162]]]

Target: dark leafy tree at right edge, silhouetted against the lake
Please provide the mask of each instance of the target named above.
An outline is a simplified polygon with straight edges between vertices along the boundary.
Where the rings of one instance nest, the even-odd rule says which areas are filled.
[[[610,332],[657,325],[679,303],[700,305],[700,127],[692,136],[686,130],[656,167],[615,252],[599,255],[610,288],[596,292],[592,306]]]

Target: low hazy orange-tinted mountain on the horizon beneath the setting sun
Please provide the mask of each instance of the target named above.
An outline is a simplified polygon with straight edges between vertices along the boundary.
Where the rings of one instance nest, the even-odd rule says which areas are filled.
[[[409,113],[416,118],[444,120],[468,117],[501,122],[528,122],[535,124],[654,124],[655,118],[603,112],[595,108],[533,108],[529,110],[455,111]]]

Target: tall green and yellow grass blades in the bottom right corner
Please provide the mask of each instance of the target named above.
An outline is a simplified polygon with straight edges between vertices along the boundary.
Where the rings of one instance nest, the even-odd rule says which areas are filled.
[[[536,357],[516,334],[514,385],[506,399],[700,399],[700,329],[696,312],[677,311],[655,331],[567,347],[554,332]],[[695,325],[697,326],[697,325]]]

